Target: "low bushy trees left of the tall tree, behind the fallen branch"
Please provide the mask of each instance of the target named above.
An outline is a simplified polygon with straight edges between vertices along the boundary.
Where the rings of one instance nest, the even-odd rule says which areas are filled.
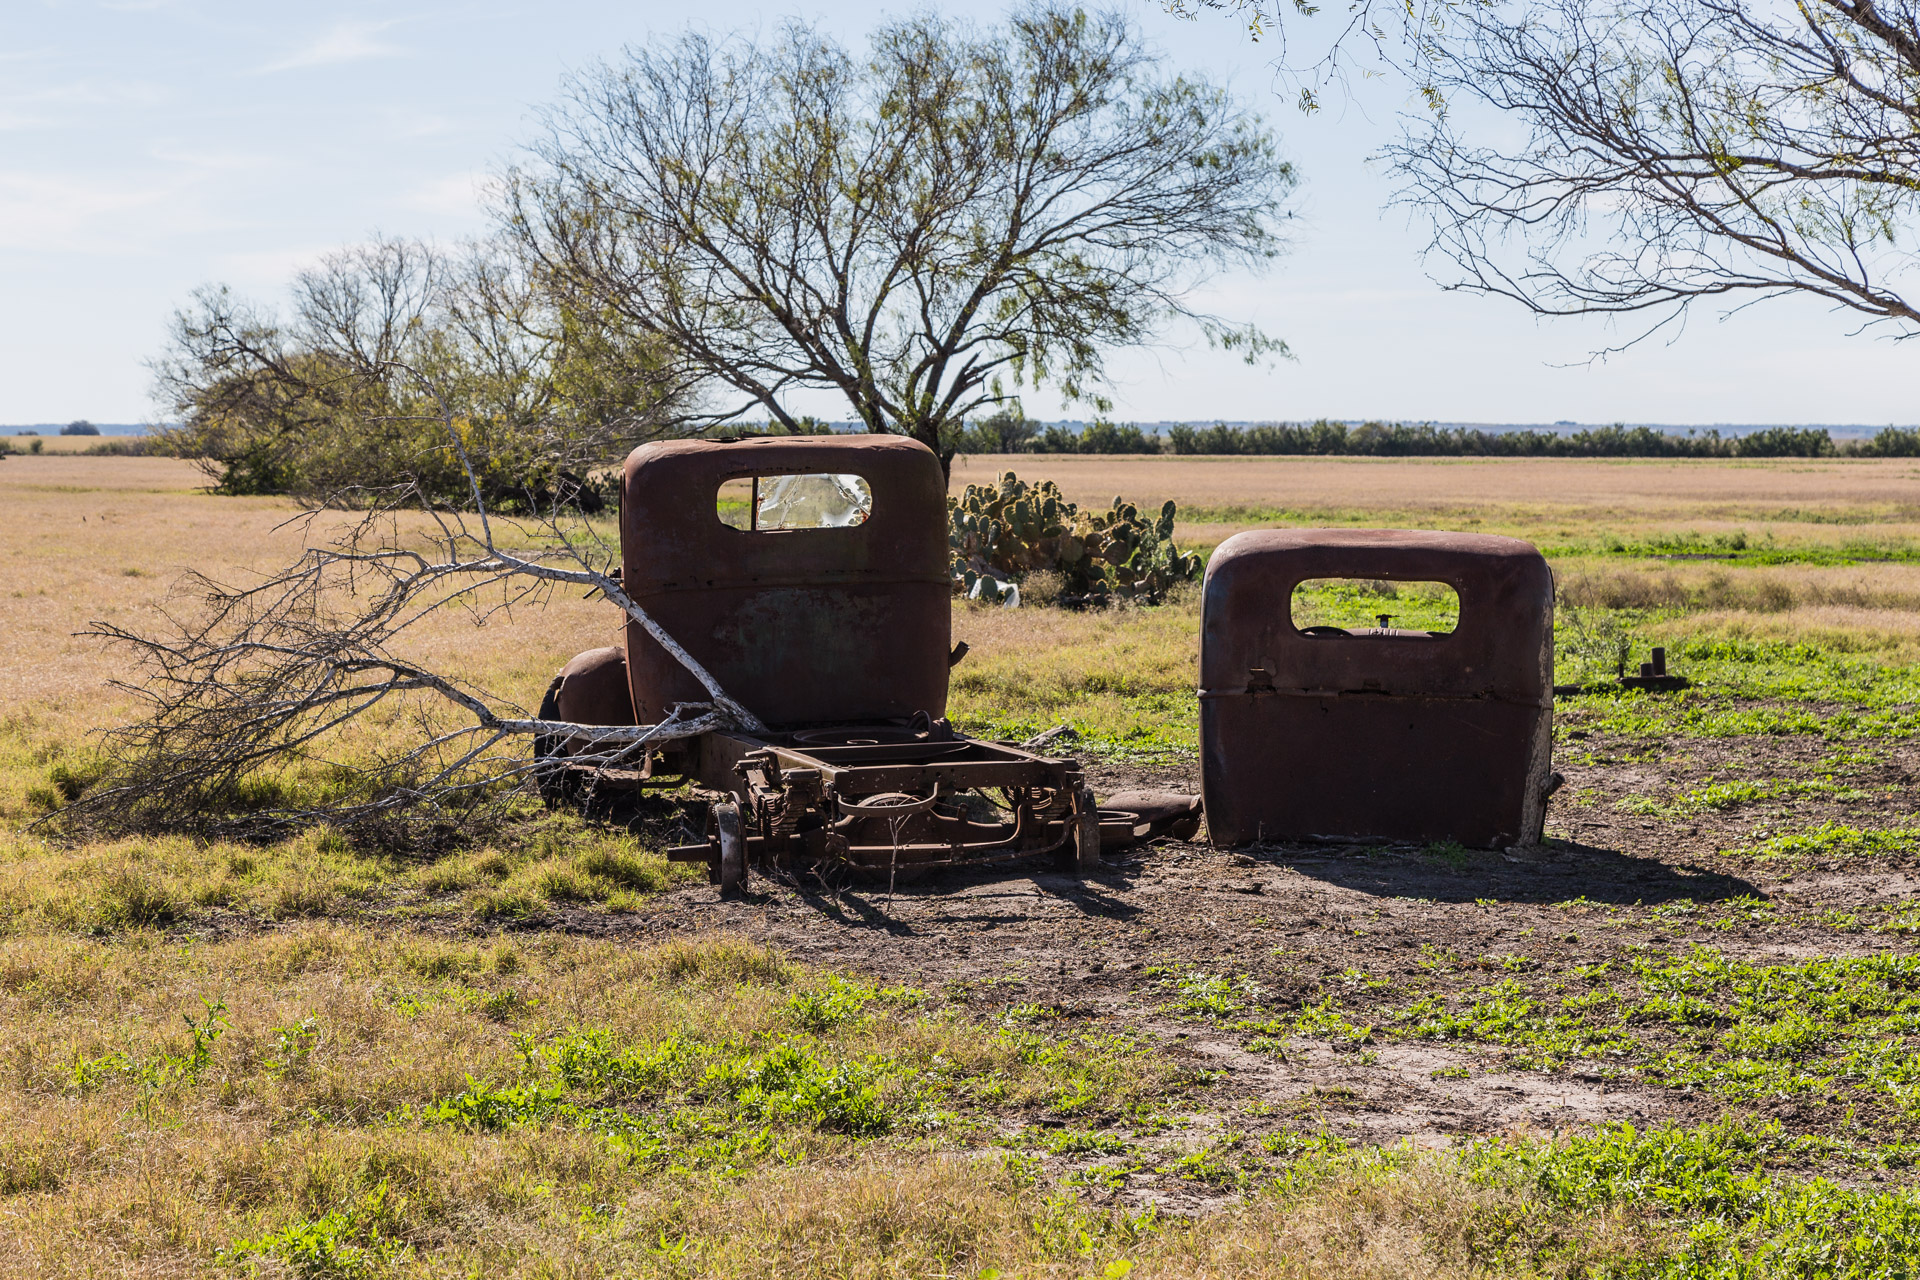
[[[349,246],[301,271],[284,311],[198,290],[154,370],[179,424],[161,449],[223,493],[303,503],[413,486],[457,505],[476,478],[495,509],[555,493],[595,507],[595,470],[680,434],[687,407],[657,340],[574,311],[493,242]],[[447,451],[442,401],[472,478]]]

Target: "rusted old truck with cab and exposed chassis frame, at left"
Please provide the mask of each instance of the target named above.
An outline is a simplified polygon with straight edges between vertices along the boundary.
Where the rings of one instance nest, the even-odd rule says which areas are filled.
[[[685,775],[732,796],[712,806],[707,841],[672,858],[707,862],[722,889],[749,864],[1098,864],[1100,816],[1075,762],[945,720],[947,480],[925,445],[653,443],[628,459],[620,493],[622,587],[764,725],[701,733],[649,762],[641,781]],[[660,723],[707,691],[630,622],[624,652],[582,654],[551,700],[574,723]]]

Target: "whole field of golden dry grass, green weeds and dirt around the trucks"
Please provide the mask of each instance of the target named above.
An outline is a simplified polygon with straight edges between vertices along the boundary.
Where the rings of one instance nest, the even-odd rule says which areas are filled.
[[[720,900],[561,814],[465,846],[31,821],[131,714],[75,633],[303,532],[0,461],[4,1276],[1895,1276],[1920,1255],[1920,464],[962,459],[1106,505],[1501,532],[1559,580],[1540,850],[1164,844]],[[332,516],[321,516],[321,524]],[[1409,604],[1411,606],[1411,604]],[[956,604],[952,714],[1194,760],[1198,599]],[[417,656],[522,706],[603,603]],[[1684,695],[1605,687],[1665,643]],[[403,718],[338,750],[371,750]]]

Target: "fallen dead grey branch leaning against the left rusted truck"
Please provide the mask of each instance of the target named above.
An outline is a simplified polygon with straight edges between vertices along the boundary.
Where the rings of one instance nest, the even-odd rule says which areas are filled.
[[[228,837],[396,818],[465,823],[538,794],[553,770],[632,768],[676,739],[764,727],[626,595],[618,547],[564,495],[528,516],[490,514],[451,413],[444,424],[470,507],[447,509],[411,482],[361,491],[349,495],[355,514],[288,568],[248,585],[194,574],[182,589],[190,608],[154,633],[88,628],[132,652],[138,676],[121,683],[146,714],[106,733],[111,764],[52,819]],[[296,522],[313,532],[319,516]],[[409,629],[430,616],[463,610],[486,626],[566,587],[620,606],[707,700],[651,725],[543,720],[405,656]],[[363,733],[372,723],[384,733]],[[570,754],[536,758],[534,739],[568,741]]]

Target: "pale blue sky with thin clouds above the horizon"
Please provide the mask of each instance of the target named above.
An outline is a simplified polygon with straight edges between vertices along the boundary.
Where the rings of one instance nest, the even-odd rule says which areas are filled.
[[[902,12],[914,6],[893,6]],[[1000,4],[945,12],[995,19]],[[288,274],[371,232],[457,240],[480,184],[536,129],[568,69],[678,31],[804,15],[849,40],[876,6],[238,4],[6,0],[0,6],[0,422],[138,420],[144,361],[202,282],[276,297]],[[1286,338],[1298,363],[1248,370],[1204,349],[1127,355],[1123,418],[1386,416],[1455,422],[1914,422],[1920,345],[1849,338],[1845,317],[1774,303],[1674,344],[1574,367],[1601,324],[1536,322],[1440,292],[1367,154],[1407,107],[1390,83],[1298,115],[1271,44],[1225,17],[1139,19],[1175,63],[1227,77],[1298,163],[1294,251],[1225,278],[1210,305]],[[833,401],[801,409],[841,416]],[[1062,411],[1031,395],[1037,416]]]

